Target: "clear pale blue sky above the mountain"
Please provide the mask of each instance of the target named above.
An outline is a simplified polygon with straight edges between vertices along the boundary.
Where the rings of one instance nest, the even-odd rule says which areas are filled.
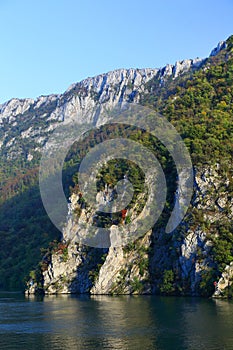
[[[0,0],[0,16],[0,103],[206,57],[233,34],[232,0]]]

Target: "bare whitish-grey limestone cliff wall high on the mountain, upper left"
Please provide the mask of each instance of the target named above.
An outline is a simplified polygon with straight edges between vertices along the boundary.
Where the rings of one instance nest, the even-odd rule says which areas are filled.
[[[0,105],[1,154],[7,158],[25,157],[29,162],[45,144],[49,133],[60,122],[82,124],[87,118],[98,121],[101,105],[109,108],[126,102],[139,102],[152,78],[163,82],[199,67],[204,60],[184,60],[162,69],[119,69],[71,85],[62,95],[40,96],[38,99],[12,99]],[[97,105],[99,111],[90,115]],[[25,140],[28,147],[25,147]]]

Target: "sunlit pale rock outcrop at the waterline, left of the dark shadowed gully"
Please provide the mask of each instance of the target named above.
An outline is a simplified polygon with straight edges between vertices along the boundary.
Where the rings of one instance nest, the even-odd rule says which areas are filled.
[[[111,201],[111,190],[108,189],[108,192],[107,201]],[[106,201],[105,193],[105,191],[98,192],[98,202]],[[131,218],[134,216],[134,211],[135,208],[128,212]],[[148,272],[151,232],[136,243],[132,243],[131,247],[88,248],[80,244],[81,237],[88,235],[88,230],[80,229],[80,224],[92,224],[94,220],[96,220],[94,208],[86,208],[80,201],[80,196],[73,194],[70,198],[67,224],[63,231],[63,243],[43,258],[41,282],[44,292],[46,294],[151,292]],[[124,222],[121,224],[124,225]],[[114,245],[116,227],[112,225],[109,229],[110,242]],[[27,293],[34,293],[35,288],[39,287],[37,283],[32,282],[32,280],[29,282]]]

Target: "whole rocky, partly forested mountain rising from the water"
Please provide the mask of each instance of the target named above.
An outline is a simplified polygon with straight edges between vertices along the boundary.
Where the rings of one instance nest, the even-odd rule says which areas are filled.
[[[232,232],[232,111],[233,37],[221,42],[207,59],[184,60],[162,69],[120,69],[73,84],[62,95],[36,100],[12,99],[0,106],[1,257],[2,289],[22,288],[46,293],[231,294]],[[168,184],[167,203],[157,224],[124,247],[94,248],[70,240],[80,218],[93,220],[93,208],[83,204],[72,164],[98,139],[123,135],[123,130],[99,128],[76,145],[66,159],[64,188],[70,216],[63,234],[49,220],[41,201],[38,167],[41,152],[58,125],[98,124],[103,108],[134,102],[161,113],[173,124],[189,149],[194,170],[194,194],[182,223],[165,232],[174,207],[176,170],[158,140],[142,136],[153,149]],[[94,112],[93,112],[94,111]],[[138,139],[137,130],[127,136]],[[99,200],[129,164],[110,162],[100,174]],[[132,164],[129,177],[138,195],[128,208],[133,220],[146,194],[142,174]],[[116,175],[118,173],[118,175]],[[117,177],[118,176],[118,177]],[[111,201],[111,200],[110,200]],[[118,215],[114,225],[119,224]],[[98,223],[114,229],[108,216]],[[126,218],[125,218],[126,220]],[[42,254],[42,255],[41,255]],[[30,272],[31,271],[31,272]],[[223,274],[223,277],[221,277]],[[227,287],[227,288],[226,288]],[[228,288],[229,287],[229,288]]]

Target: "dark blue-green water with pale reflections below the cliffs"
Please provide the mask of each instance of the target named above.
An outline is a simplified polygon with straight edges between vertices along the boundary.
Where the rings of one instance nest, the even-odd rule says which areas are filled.
[[[0,294],[0,349],[233,349],[233,302]]]

